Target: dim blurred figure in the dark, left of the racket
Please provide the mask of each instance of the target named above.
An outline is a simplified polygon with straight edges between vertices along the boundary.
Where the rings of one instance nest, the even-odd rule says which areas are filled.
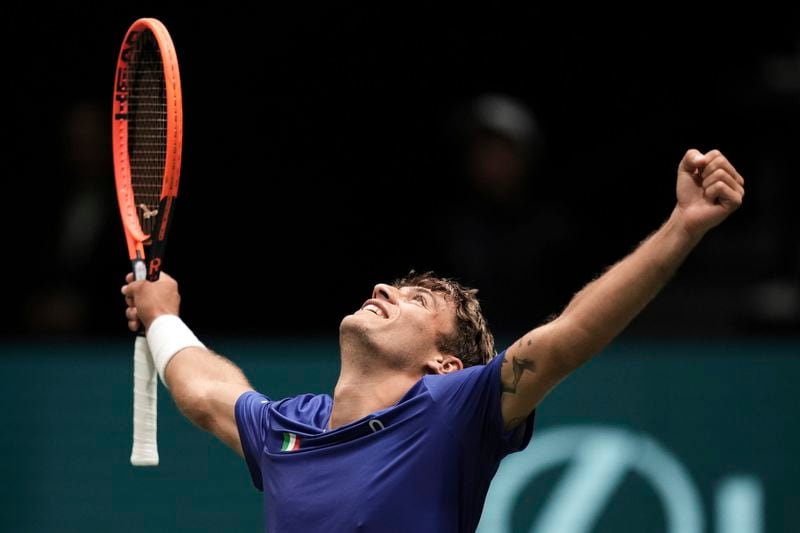
[[[42,213],[58,213],[45,221],[36,242],[36,278],[41,285],[25,301],[21,330],[37,335],[108,332],[108,309],[102,304],[98,276],[117,273],[111,261],[111,240],[121,231],[112,181],[110,111],[82,101],[66,110],[58,149],[62,167],[49,180],[47,201],[56,205]],[[60,171],[60,172],[59,172]],[[120,251],[120,254],[122,251]],[[105,291],[104,291],[105,292]],[[113,300],[109,301],[114,305]],[[114,321],[116,322],[116,321]]]

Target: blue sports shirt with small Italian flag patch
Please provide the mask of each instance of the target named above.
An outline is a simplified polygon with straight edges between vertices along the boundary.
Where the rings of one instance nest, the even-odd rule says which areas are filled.
[[[500,460],[533,432],[533,413],[503,429],[504,357],[425,376],[396,405],[332,431],[327,394],[242,394],[236,423],[267,531],[474,532]]]

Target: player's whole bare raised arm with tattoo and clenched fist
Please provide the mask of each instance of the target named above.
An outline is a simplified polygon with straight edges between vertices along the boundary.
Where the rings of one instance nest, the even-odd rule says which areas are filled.
[[[500,376],[508,429],[636,317],[703,235],[741,205],[744,180],[719,151],[689,150],[678,166],[676,192],[677,205],[656,232],[586,285],[555,320],[508,349]]]

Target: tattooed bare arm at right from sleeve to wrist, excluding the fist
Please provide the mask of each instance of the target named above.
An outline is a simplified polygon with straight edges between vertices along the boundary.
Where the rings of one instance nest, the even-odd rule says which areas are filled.
[[[625,329],[697,242],[673,213],[633,253],[578,292],[558,318],[509,347],[500,371],[506,429]]]

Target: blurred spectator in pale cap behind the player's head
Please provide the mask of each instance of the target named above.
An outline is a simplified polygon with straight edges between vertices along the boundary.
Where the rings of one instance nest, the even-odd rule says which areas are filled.
[[[569,216],[542,175],[540,125],[522,102],[487,94],[455,114],[450,139],[456,192],[453,209],[437,224],[437,269],[481,287],[490,319],[502,310],[505,327],[524,326],[506,318],[529,320],[534,303],[542,313],[565,303],[552,283],[531,280],[569,264]]]

